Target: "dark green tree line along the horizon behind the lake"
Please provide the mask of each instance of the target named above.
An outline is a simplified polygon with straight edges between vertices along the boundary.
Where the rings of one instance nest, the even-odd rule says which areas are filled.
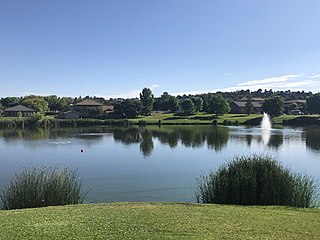
[[[320,93],[313,94],[311,92],[291,92],[261,89],[257,91],[240,90],[235,92],[217,92],[205,93],[197,95],[173,96],[168,92],[164,92],[159,97],[154,97],[151,89],[144,88],[139,98],[122,99],[102,97],[58,97],[35,96],[29,95],[25,97],[5,97],[0,99],[0,110],[9,108],[18,104],[30,107],[38,112],[55,113],[64,111],[71,104],[78,103],[84,99],[93,99],[104,105],[114,106],[114,113],[120,117],[134,118],[139,114],[148,116],[152,111],[172,112],[180,115],[191,115],[198,112],[206,112],[216,115],[223,115],[230,112],[229,103],[238,99],[246,99],[246,113],[253,113],[253,98],[263,98],[265,101],[262,110],[272,116],[279,116],[290,110],[301,109],[305,113],[320,114]],[[293,103],[285,106],[284,101],[287,100],[306,100],[306,106],[298,106]]]

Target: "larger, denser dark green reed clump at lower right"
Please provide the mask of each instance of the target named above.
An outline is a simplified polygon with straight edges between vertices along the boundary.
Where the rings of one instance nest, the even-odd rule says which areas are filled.
[[[284,168],[270,156],[238,156],[196,179],[198,202],[315,207],[314,178]]]

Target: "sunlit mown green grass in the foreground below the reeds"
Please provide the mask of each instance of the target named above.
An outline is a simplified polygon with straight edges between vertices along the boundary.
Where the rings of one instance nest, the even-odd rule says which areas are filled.
[[[0,239],[319,239],[320,210],[114,203],[0,211]]]

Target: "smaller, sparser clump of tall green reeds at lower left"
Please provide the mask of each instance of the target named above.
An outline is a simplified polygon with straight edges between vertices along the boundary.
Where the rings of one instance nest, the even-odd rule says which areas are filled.
[[[25,168],[1,191],[2,209],[21,209],[82,203],[85,195],[76,170]]]

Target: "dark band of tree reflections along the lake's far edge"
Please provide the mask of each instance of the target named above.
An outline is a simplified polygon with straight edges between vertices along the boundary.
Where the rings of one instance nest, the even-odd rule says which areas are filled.
[[[162,127],[128,127],[128,128],[63,128],[63,129],[15,129],[0,130],[0,139],[7,143],[23,140],[25,144],[33,146],[33,141],[52,139],[51,144],[64,145],[71,141],[65,138],[84,140],[95,143],[103,141],[106,136],[113,136],[115,142],[125,145],[139,144],[145,157],[152,154],[154,141],[176,148],[179,144],[187,148],[201,148],[217,152],[222,151],[229,138],[252,143],[262,143],[270,148],[278,149],[284,139],[288,141],[305,141],[306,146],[320,152],[320,128],[311,126],[303,129],[261,129],[248,127],[212,127],[212,126],[162,126]],[[60,141],[55,141],[59,139]]]

